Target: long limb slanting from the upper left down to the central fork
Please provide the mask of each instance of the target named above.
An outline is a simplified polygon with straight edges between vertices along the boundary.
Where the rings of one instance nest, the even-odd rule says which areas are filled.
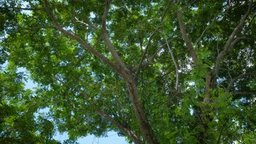
[[[63,29],[60,24],[57,22],[57,20],[55,19],[53,12],[50,10],[49,6],[48,6],[48,1],[44,0],[44,4],[45,4],[45,9],[50,17],[50,19],[53,21],[55,27],[63,34],[67,35],[68,37],[78,41],[79,44],[81,44],[82,46],[85,47],[86,50],[88,50],[89,52],[91,52],[93,55],[95,55],[97,58],[100,58],[103,62],[105,62],[107,65],[109,65],[109,67],[113,68],[114,70],[118,71],[119,73],[121,73],[121,69],[119,67],[117,67],[117,65],[115,65],[112,61],[110,61],[107,57],[105,57],[104,55],[102,55],[100,52],[96,51],[95,49],[93,49],[89,44],[87,44],[82,38],[78,37],[77,35],[74,35],[68,31],[66,31],[65,29]]]

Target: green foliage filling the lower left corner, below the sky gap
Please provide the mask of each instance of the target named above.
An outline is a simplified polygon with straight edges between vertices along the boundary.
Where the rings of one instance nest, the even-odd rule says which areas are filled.
[[[37,118],[40,107],[33,92],[24,90],[23,74],[12,63],[1,70],[0,141],[4,143],[58,143],[53,140],[55,128],[51,121]]]

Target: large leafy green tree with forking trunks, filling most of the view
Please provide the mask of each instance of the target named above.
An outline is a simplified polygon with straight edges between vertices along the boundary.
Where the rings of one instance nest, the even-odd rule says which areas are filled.
[[[38,101],[71,140],[109,130],[134,143],[255,135],[255,2],[0,4],[8,61],[40,83]]]

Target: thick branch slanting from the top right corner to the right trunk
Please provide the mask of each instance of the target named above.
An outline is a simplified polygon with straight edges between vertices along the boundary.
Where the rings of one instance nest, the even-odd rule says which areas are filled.
[[[247,17],[249,16],[249,14],[251,14],[251,10],[252,10],[252,1],[249,4],[248,10],[246,12],[245,15],[243,15],[242,19],[240,20],[240,22],[238,23],[238,25],[236,26],[236,28],[234,29],[234,31],[231,33],[231,35],[229,36],[228,41],[226,41],[226,44],[223,47],[223,51],[219,53],[216,62],[214,64],[214,71],[213,71],[213,75],[216,75],[219,71],[219,63],[222,62],[222,60],[225,58],[225,56],[228,54],[231,44],[234,42],[234,44],[239,40],[237,39],[237,41],[235,39],[236,34],[240,31],[240,29],[243,27],[243,25],[245,24],[245,20],[247,19]],[[234,46],[234,45],[232,45]]]

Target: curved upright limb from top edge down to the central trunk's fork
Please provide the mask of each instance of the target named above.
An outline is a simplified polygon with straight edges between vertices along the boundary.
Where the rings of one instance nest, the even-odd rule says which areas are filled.
[[[114,46],[112,45],[111,41],[109,40],[108,34],[107,34],[107,29],[106,29],[106,21],[107,21],[107,16],[108,16],[108,10],[110,7],[110,1],[106,0],[106,7],[104,10],[104,14],[102,16],[102,34],[104,37],[104,40],[107,44],[108,50],[110,51],[110,53],[112,54],[113,58],[115,59],[115,62],[117,62],[117,64],[123,68],[126,73],[129,71],[129,69],[126,67],[126,65],[124,64],[124,62],[121,60],[121,58],[119,57],[117,51],[115,51]],[[120,74],[124,74],[124,71],[121,71]]]

